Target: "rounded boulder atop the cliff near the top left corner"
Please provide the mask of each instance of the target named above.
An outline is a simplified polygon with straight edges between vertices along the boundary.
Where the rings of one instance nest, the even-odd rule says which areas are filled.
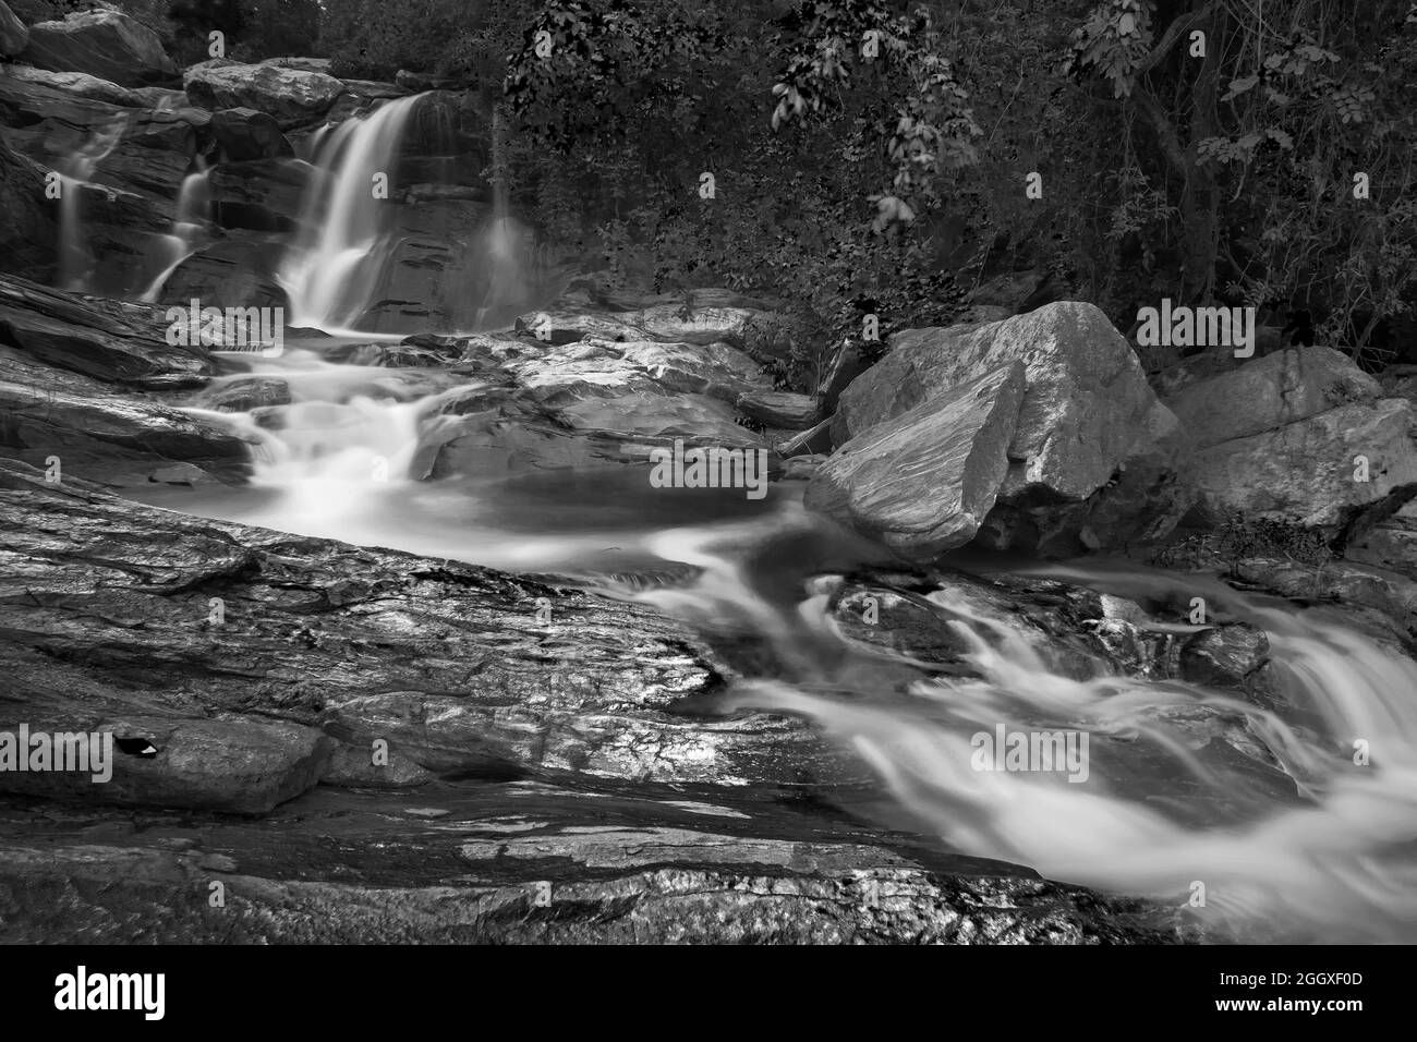
[[[38,68],[88,72],[120,86],[142,86],[176,72],[157,34],[115,10],[31,26],[30,45],[20,57]]]

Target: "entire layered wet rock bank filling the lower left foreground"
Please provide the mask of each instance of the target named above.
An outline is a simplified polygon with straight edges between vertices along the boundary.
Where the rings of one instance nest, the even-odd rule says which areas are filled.
[[[731,671],[642,608],[18,464],[0,489],[0,730],[146,753],[118,753],[108,787],[0,775],[6,940],[1199,937],[1173,910],[853,824],[863,774],[805,723],[676,710]]]

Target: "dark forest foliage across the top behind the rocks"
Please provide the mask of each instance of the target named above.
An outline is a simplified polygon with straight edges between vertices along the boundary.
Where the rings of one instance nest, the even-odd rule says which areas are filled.
[[[1000,293],[1091,301],[1124,330],[1162,296],[1302,309],[1365,364],[1413,327],[1408,0],[120,6],[179,61],[215,28],[237,60],[476,89],[527,221],[612,281],[768,292],[812,343]]]

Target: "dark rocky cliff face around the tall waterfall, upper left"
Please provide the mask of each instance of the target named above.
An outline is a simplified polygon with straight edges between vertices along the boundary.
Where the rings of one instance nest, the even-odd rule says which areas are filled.
[[[0,269],[55,282],[67,234],[86,268],[82,288],[106,295],[286,305],[278,271],[319,190],[309,160],[320,140],[410,96],[295,60],[217,58],[176,78],[156,38],[116,11],[34,30],[28,50],[0,67],[0,179],[13,203],[0,224]],[[361,327],[470,329],[486,318],[478,305],[490,291],[479,285],[493,218],[489,121],[476,95],[441,89],[421,99],[385,172],[388,264]],[[45,184],[51,174],[71,179],[62,184],[71,204]],[[200,213],[179,214],[193,174],[207,177],[207,197]],[[186,259],[170,241],[177,218],[193,225]],[[538,278],[530,262],[523,278]],[[503,320],[526,303],[504,299]]]

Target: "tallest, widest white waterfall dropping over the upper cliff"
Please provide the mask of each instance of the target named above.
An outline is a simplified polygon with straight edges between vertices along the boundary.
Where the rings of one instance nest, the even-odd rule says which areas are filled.
[[[351,329],[370,305],[388,255],[387,223],[374,176],[394,179],[404,128],[421,95],[385,102],[319,142],[296,241],[278,279],[290,296],[290,322]]]

